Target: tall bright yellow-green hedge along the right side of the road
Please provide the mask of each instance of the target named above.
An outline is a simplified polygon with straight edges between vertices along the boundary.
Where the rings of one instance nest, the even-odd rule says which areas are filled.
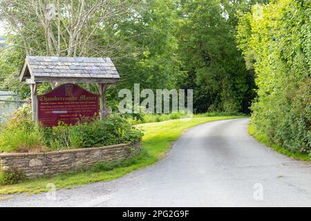
[[[311,1],[254,6],[240,20],[238,43],[257,75],[257,133],[290,151],[310,153]]]

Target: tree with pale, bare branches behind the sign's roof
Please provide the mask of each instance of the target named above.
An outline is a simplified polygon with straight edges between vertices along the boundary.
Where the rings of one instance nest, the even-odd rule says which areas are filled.
[[[1,0],[0,6],[0,19],[22,43],[10,46],[26,55],[81,57],[111,54],[113,45],[102,44],[98,35],[114,28],[135,1]]]

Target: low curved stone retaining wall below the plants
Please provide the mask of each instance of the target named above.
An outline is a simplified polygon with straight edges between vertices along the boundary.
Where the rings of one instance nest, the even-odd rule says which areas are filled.
[[[98,162],[126,160],[126,158],[133,157],[139,150],[140,143],[45,153],[1,153],[0,166],[2,171],[15,168],[22,171],[26,177],[34,178],[90,168]]]

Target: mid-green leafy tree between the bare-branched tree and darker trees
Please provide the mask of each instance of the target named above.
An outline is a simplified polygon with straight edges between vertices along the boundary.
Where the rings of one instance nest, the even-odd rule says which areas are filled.
[[[131,36],[127,54],[117,61],[120,87],[174,88],[181,75],[176,38],[177,15],[172,0],[142,1],[135,15],[117,23],[121,38]]]

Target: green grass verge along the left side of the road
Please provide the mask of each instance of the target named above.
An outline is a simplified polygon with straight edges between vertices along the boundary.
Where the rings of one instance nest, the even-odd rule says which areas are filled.
[[[182,132],[198,124],[221,120],[234,119],[238,116],[225,117],[193,117],[185,119],[171,119],[164,122],[138,124],[144,131],[142,140],[143,150],[130,160],[117,164],[102,164],[95,166],[88,171],[79,171],[57,175],[55,177],[41,177],[36,180],[28,180],[19,184],[0,186],[1,194],[9,193],[40,193],[48,191],[47,184],[55,184],[57,189],[81,186],[89,182],[99,182],[113,180],[126,173],[142,169],[154,164],[165,156],[174,142],[180,137]],[[1,174],[0,174],[1,179]]]

